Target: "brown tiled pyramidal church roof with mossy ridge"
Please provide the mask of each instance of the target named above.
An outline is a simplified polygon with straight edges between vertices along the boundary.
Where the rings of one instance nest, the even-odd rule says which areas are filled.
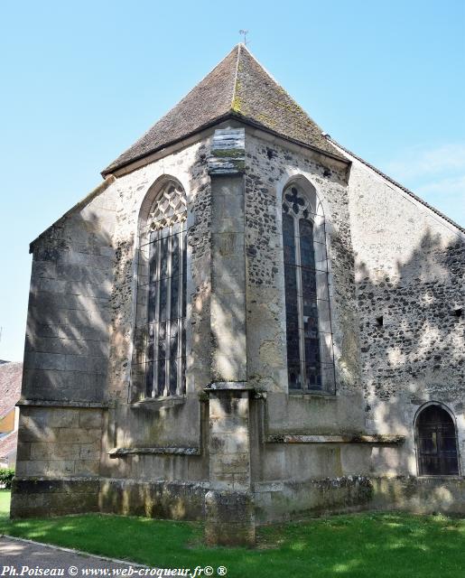
[[[321,135],[321,127],[266,72],[244,44],[237,44],[181,102],[102,174],[114,172],[228,117],[236,117],[347,162]]]

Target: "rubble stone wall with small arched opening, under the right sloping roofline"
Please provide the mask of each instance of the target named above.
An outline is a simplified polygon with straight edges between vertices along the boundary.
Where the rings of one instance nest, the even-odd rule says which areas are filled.
[[[406,436],[400,452],[374,451],[372,468],[416,475],[414,419],[429,401],[451,410],[465,455],[465,235],[350,158],[367,431]]]

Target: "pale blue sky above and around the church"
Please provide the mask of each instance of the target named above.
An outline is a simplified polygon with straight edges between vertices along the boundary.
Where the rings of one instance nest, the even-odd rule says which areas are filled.
[[[465,225],[465,2],[2,6],[0,359],[23,358],[28,244],[240,41],[341,144]]]

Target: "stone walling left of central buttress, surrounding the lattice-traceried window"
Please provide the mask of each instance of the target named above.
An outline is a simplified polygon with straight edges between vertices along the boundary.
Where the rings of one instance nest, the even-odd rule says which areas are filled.
[[[200,437],[206,433],[200,427],[198,399],[210,382],[206,150],[205,142],[194,143],[118,179],[110,177],[33,243],[23,398],[35,406],[22,409],[20,476],[208,478],[208,455],[200,454]],[[187,396],[177,405],[135,406],[128,400],[138,218],[153,182],[165,174],[181,182],[189,203]],[[55,407],[37,406],[43,400]],[[80,409],[67,406],[98,404],[109,409],[94,435],[92,428],[79,424]],[[92,459],[90,453],[84,457],[97,442],[101,451]],[[185,455],[163,450],[180,446]],[[162,451],[110,459],[107,452],[118,447]],[[18,497],[20,493],[18,487]]]

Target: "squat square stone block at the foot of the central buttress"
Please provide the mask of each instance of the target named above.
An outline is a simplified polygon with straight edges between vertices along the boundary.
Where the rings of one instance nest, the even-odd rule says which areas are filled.
[[[205,495],[205,541],[208,545],[255,545],[252,494],[210,490]]]

